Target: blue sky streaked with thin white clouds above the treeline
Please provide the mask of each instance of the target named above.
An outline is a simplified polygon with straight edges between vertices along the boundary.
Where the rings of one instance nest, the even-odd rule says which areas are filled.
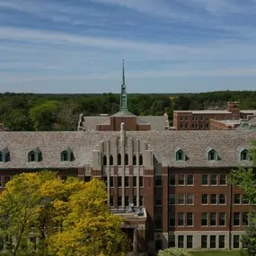
[[[256,90],[256,0],[0,0],[0,93]]]

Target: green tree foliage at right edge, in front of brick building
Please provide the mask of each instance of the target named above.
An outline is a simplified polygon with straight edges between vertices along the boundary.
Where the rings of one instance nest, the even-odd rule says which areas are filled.
[[[256,204],[256,187],[255,187],[255,168],[256,166],[256,141],[252,141],[250,150],[253,166],[247,168],[239,166],[238,170],[231,172],[230,183],[233,186],[239,186],[243,190],[245,199],[248,199],[250,205]],[[250,226],[245,229],[245,234],[242,236],[242,243],[248,248],[243,251],[243,255],[256,255],[256,217],[253,213],[250,214]]]

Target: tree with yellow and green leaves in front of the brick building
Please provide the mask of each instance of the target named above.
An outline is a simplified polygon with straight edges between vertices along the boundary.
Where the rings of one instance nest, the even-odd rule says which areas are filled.
[[[0,255],[124,255],[122,219],[110,213],[105,184],[56,172],[22,173],[0,195]]]

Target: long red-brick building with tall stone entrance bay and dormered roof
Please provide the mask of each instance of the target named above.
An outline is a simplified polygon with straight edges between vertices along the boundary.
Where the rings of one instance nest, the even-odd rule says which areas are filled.
[[[126,96],[122,91],[120,98]],[[131,115],[125,102],[121,119],[97,117],[94,128],[81,117],[76,132],[0,133],[2,190],[21,172],[96,177],[107,184],[110,209],[127,220],[123,228],[133,252],[241,248],[250,207],[227,180],[238,164],[252,166],[248,150],[256,133],[171,131],[149,120],[141,128],[141,117]]]

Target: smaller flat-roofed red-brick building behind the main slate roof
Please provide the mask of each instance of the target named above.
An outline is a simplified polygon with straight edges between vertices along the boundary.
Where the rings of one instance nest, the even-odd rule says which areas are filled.
[[[227,102],[226,110],[174,110],[173,128],[176,130],[207,130],[210,129],[210,119],[239,120],[255,115],[256,110],[240,110],[239,102]],[[218,125],[212,122],[212,125]],[[219,125],[219,128],[225,126]],[[226,128],[225,129],[229,129]]]

